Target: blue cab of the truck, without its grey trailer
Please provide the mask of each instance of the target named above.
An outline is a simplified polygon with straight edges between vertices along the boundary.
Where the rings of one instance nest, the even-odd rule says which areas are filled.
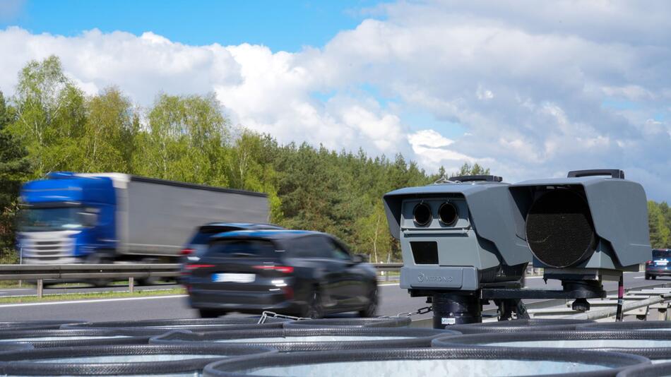
[[[117,196],[109,177],[50,173],[23,186],[21,204],[24,263],[100,263],[91,259],[117,248]]]

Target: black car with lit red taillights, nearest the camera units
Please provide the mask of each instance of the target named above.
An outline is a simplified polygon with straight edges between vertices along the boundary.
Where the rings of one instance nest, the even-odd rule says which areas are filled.
[[[297,230],[218,234],[200,261],[185,265],[191,306],[201,317],[230,311],[321,318],[374,316],[375,269],[330,234]]]

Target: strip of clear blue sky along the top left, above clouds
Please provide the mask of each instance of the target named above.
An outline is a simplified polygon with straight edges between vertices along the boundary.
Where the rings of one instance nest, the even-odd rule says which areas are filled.
[[[9,0],[13,1],[13,0]],[[321,47],[355,28],[380,1],[16,1],[0,28],[75,36],[97,28],[141,35],[151,31],[184,44],[263,44],[273,51]],[[363,12],[363,13],[362,13]]]

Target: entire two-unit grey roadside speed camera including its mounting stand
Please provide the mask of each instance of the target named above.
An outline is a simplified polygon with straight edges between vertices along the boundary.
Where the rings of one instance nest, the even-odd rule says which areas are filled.
[[[497,176],[461,176],[401,188],[383,198],[400,241],[400,287],[428,297],[434,327],[482,321],[494,300],[501,318],[526,316],[521,299],[605,297],[618,280],[651,258],[643,187],[621,170],[582,170],[566,178],[504,184]],[[528,263],[562,289],[528,289]],[[622,300],[618,318],[621,318]]]

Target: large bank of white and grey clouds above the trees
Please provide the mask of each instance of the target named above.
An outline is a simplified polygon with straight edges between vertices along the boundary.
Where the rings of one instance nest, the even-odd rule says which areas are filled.
[[[478,162],[507,181],[622,167],[649,196],[670,199],[671,3],[402,1],[374,14],[384,20],[293,53],[9,28],[0,88],[11,92],[29,59],[57,54],[87,92],[119,85],[150,104],[160,90],[214,91],[234,122],[285,142],[403,152],[432,172]],[[417,131],[407,112],[465,132]]]

